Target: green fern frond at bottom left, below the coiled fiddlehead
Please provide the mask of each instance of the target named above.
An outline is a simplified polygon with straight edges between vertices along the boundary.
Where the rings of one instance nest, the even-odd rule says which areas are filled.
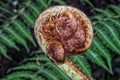
[[[38,57],[31,56],[27,60],[23,60],[20,64],[16,67],[13,67],[7,71],[10,75],[6,76],[4,79],[12,80],[14,78],[17,79],[30,79],[35,80],[38,77],[47,79],[47,80],[70,80],[68,76],[64,74],[59,68],[57,68],[51,61],[42,61],[41,58],[45,55],[43,53],[36,53],[39,55]],[[48,59],[47,57],[45,57]],[[4,80],[3,79],[3,80]]]

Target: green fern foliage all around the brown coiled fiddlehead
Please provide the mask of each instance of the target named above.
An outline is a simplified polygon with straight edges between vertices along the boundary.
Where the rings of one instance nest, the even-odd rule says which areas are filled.
[[[6,3],[13,0],[0,1],[0,55],[13,61],[8,49],[20,52],[22,46],[27,57],[9,68],[2,80],[71,80],[64,72],[57,68],[40,50],[30,50],[29,43],[38,47],[33,34],[34,23],[41,11],[52,3],[66,5],[63,0],[25,0],[18,4],[18,9],[7,8]],[[114,52],[120,55],[120,6],[109,5],[106,9],[95,8],[89,0],[84,0],[93,8],[96,16],[91,16],[94,29],[92,46],[78,56],[69,57],[69,60],[92,77],[91,62],[113,74],[112,57]],[[8,14],[8,16],[4,16]],[[23,54],[22,54],[23,55]],[[0,63],[1,64],[1,63]]]

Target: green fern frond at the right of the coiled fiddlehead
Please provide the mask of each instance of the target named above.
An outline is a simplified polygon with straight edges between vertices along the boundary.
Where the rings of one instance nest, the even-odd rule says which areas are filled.
[[[100,14],[91,17],[94,21],[94,31],[96,38],[93,40],[91,50],[95,53],[100,54],[107,61],[109,72],[112,74],[112,65],[111,65],[111,55],[106,48],[109,48],[112,51],[120,54],[120,38],[119,38],[119,9],[116,6],[108,6],[106,10],[96,9]],[[89,56],[88,56],[89,58]]]

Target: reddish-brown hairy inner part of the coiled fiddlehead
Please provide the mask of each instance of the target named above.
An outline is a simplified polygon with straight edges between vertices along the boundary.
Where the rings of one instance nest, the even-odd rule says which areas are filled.
[[[56,60],[64,60],[66,54],[80,52],[86,40],[86,25],[80,15],[64,12],[49,16],[43,23],[42,33],[49,43],[48,55]]]

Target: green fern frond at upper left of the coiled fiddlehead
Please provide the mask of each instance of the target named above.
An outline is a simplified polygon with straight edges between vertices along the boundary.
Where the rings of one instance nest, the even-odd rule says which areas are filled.
[[[40,13],[40,11],[50,6],[49,4],[46,4],[46,2],[47,0],[44,0],[44,1],[36,0],[35,3],[32,3],[32,1],[21,2],[18,5],[20,7],[20,10],[13,12],[12,10],[9,10],[8,8],[6,8],[6,6],[4,6],[5,5],[4,2],[0,1],[0,4],[2,5],[0,7],[0,10],[4,11],[5,13],[11,14],[11,17],[7,19],[7,21],[3,22],[3,24],[1,25],[2,34],[0,35],[0,39],[1,39],[0,43],[4,45],[5,47],[12,47],[20,51],[19,47],[16,45],[16,43],[19,43],[25,47],[27,52],[29,52],[30,50],[29,50],[29,47],[26,41],[28,40],[33,43],[34,47],[36,47],[35,40],[33,39],[31,32],[28,29],[29,28],[33,29],[35,18]],[[49,1],[49,2],[50,4],[52,2],[56,2],[59,4],[65,4],[64,1],[62,0],[54,0],[54,1]],[[39,6],[41,6],[41,8]],[[1,15],[1,17],[3,16]],[[20,17],[21,19],[18,20],[17,17]],[[29,26],[29,28],[25,27],[26,25]],[[10,35],[7,35],[7,34],[10,34]],[[11,39],[8,39],[8,38],[11,38]],[[6,56],[6,58],[8,58],[7,50],[6,50],[7,48],[6,49],[1,48],[1,49],[2,49],[1,54],[3,56]]]

